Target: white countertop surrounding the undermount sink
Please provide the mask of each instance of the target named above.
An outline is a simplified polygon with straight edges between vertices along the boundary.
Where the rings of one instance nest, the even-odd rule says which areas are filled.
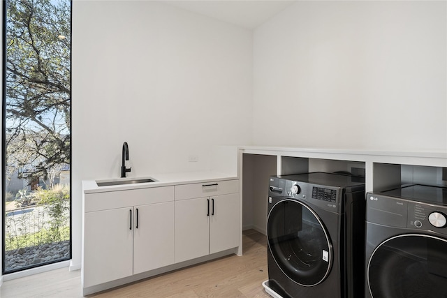
[[[121,184],[114,186],[98,186],[96,180],[132,180],[132,179],[145,179],[151,178],[156,181],[138,184]],[[96,179],[96,180],[83,180],[82,190],[84,193],[103,193],[108,191],[126,191],[129,189],[138,188],[150,188],[150,187],[160,187],[160,186],[173,186],[179,184],[193,184],[200,182],[209,182],[216,180],[233,180],[238,179],[236,176],[229,174],[223,174],[219,172],[176,172],[168,174],[154,174],[145,177],[126,177],[126,178],[116,178],[116,179]]]

